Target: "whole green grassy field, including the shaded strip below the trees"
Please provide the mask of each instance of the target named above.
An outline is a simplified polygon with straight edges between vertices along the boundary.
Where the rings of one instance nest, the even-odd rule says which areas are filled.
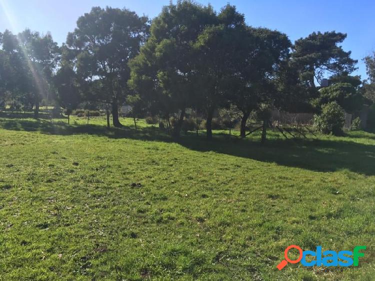
[[[172,142],[121,121],[0,118],[1,280],[373,280],[375,134]],[[278,271],[290,244],[367,249]]]

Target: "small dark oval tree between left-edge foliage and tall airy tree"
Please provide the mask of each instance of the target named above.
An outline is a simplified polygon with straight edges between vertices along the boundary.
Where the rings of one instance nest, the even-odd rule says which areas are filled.
[[[79,89],[77,85],[77,76],[72,67],[63,64],[54,76],[54,85],[56,88],[56,97],[58,104],[65,108],[67,114],[67,123],[70,123],[70,114],[79,104]]]

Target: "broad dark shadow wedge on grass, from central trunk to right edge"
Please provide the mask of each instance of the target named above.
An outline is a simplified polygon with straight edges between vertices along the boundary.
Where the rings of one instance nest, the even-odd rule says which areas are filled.
[[[260,139],[260,137],[259,137]],[[347,169],[365,175],[375,175],[375,146],[331,139],[270,139],[259,141],[188,141],[180,144],[198,151],[214,151],[262,162],[298,167],[312,171],[332,172]]]

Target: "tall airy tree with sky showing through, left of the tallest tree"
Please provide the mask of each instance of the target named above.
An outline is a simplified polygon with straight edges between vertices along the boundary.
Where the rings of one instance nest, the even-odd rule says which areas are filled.
[[[147,38],[147,17],[128,9],[93,7],[77,20],[66,43],[77,52],[77,71],[88,81],[102,85],[97,101],[112,105],[113,125],[120,126],[118,104],[128,92],[128,61]]]

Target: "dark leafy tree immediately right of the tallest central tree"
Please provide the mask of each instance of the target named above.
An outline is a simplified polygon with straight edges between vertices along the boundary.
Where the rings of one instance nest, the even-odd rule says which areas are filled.
[[[207,139],[212,138],[214,111],[225,105],[233,90],[232,79],[238,72],[243,57],[244,15],[227,4],[217,15],[217,24],[206,26],[199,34],[196,51],[196,99],[206,111]]]

